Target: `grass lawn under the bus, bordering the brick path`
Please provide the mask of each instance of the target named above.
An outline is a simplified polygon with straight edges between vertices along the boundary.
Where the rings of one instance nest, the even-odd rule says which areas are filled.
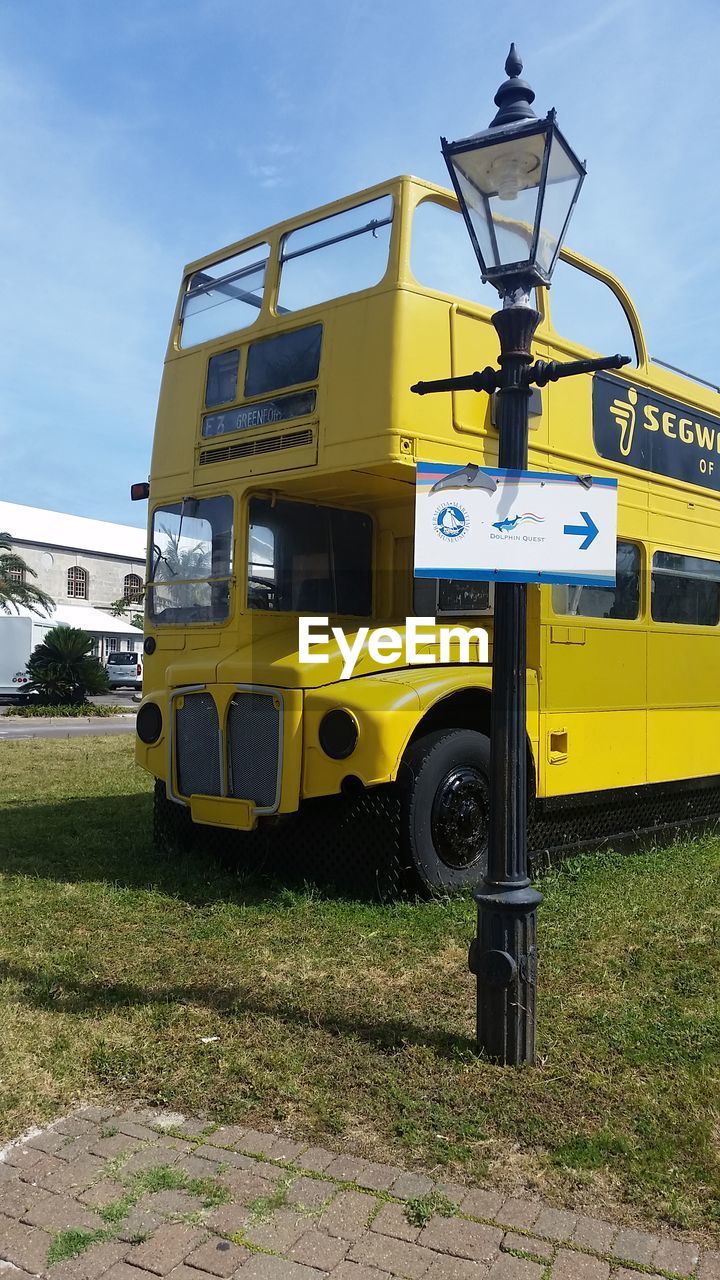
[[[502,1070],[471,1050],[471,901],[161,856],[129,736],[4,742],[0,1140],[127,1096],[717,1228],[719,870],[705,837],[547,874],[541,1064]]]

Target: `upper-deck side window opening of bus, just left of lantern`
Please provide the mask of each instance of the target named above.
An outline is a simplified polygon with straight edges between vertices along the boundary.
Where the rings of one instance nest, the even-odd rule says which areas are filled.
[[[436,200],[423,200],[413,218],[410,270],[418,284],[497,311],[500,297],[483,284],[462,214]]]

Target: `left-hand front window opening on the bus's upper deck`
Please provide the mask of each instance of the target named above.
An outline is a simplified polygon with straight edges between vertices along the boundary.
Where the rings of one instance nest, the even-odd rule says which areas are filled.
[[[268,244],[256,244],[190,276],[182,303],[181,347],[195,347],[255,323],[263,306],[268,253]]]

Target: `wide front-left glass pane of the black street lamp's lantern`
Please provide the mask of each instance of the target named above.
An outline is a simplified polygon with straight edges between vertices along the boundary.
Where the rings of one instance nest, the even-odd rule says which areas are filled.
[[[544,132],[500,138],[452,157],[489,269],[530,256],[543,151]]]

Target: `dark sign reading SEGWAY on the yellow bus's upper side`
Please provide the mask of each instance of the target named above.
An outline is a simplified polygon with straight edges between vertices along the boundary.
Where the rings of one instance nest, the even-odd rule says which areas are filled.
[[[720,417],[712,413],[596,374],[592,426],[601,458],[720,489]]]

